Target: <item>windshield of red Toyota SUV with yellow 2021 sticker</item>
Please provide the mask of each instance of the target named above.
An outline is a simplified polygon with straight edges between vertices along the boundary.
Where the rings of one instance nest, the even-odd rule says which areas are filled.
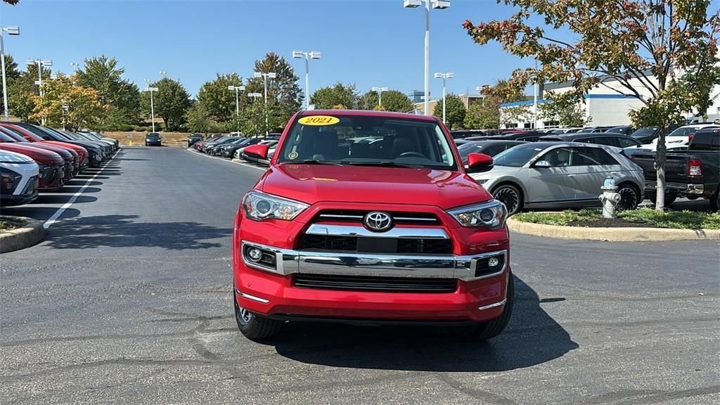
[[[448,170],[457,167],[437,123],[366,115],[301,117],[283,143],[278,163],[302,161]]]

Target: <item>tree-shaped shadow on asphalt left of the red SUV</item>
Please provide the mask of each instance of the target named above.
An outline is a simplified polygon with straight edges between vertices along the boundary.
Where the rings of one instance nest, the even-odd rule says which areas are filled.
[[[207,249],[220,243],[204,241],[230,236],[232,228],[215,228],[197,222],[138,222],[138,215],[99,215],[63,219],[53,225],[66,232],[48,246],[55,249],[90,249],[99,246],[162,247],[173,250]]]

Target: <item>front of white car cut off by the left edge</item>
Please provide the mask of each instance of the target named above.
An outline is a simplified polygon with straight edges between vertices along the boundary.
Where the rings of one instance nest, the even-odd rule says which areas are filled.
[[[28,156],[0,151],[0,205],[22,205],[37,198],[40,167]]]

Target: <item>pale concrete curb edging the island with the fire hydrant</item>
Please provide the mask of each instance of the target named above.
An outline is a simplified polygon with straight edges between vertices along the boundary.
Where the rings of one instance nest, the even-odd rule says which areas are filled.
[[[508,218],[508,228],[518,233],[564,239],[590,239],[610,242],[707,241],[720,240],[720,229],[668,228],[582,228],[542,225]]]

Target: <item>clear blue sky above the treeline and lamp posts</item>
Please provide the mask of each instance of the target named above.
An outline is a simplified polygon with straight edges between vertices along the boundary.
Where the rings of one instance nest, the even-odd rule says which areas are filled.
[[[448,91],[475,93],[482,84],[531,66],[530,59],[507,55],[499,45],[474,44],[462,29],[508,17],[512,9],[494,0],[452,0],[431,10],[431,77],[453,71]],[[217,73],[252,74],[253,61],[274,51],[287,58],[302,79],[304,63],[292,50],[320,50],[312,61],[310,90],[337,81],[361,92],[387,86],[423,89],[422,9],[403,9],[402,0],[325,1],[34,1],[0,3],[0,25],[19,25],[19,37],[5,37],[16,61],[49,58],[53,70],[68,73],[70,63],[105,54],[125,67],[125,78],[139,86],[159,79],[158,71],[179,79],[195,94]],[[441,79],[431,79],[433,97]]]

